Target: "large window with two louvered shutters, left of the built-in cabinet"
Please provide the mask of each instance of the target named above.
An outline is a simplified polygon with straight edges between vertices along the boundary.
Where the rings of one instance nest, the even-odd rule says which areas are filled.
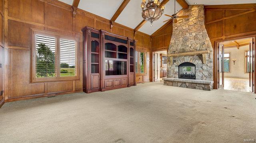
[[[50,32],[32,31],[32,82],[78,79],[78,39]]]

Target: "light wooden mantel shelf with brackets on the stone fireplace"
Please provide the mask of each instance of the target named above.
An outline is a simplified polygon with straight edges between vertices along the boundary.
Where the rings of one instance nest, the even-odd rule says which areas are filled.
[[[172,57],[180,57],[180,56],[191,56],[191,55],[201,55],[203,57],[203,63],[206,64],[206,54],[210,53],[209,50],[205,51],[194,51],[194,52],[186,52],[186,53],[175,53],[168,55],[170,57],[170,63],[172,64]]]

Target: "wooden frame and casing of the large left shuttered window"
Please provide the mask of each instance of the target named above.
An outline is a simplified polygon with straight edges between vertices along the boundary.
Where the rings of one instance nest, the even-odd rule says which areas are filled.
[[[55,77],[36,77],[36,35],[54,37],[55,38],[55,67],[56,67],[56,76]],[[31,82],[52,82],[52,81],[63,81],[63,80],[79,80],[79,38],[71,37],[67,35],[61,35],[54,32],[49,32],[45,30],[38,30],[31,28]],[[60,76],[60,39],[75,41],[75,67],[76,67],[76,76]]]

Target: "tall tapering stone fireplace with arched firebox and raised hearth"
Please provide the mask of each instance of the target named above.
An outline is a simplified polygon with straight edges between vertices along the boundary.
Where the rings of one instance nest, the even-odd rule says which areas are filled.
[[[164,84],[212,90],[213,49],[204,25],[204,6],[189,6],[179,15],[189,17],[173,22]]]

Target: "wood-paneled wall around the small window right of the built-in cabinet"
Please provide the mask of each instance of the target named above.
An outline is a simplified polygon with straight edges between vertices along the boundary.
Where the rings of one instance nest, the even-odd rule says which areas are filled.
[[[152,79],[151,76],[151,38],[150,35],[142,33],[140,31],[136,31],[135,33],[135,39],[138,40],[136,42],[136,51],[144,51],[147,53],[147,73],[144,75],[136,74],[136,82],[141,83],[141,82],[149,82]]]

